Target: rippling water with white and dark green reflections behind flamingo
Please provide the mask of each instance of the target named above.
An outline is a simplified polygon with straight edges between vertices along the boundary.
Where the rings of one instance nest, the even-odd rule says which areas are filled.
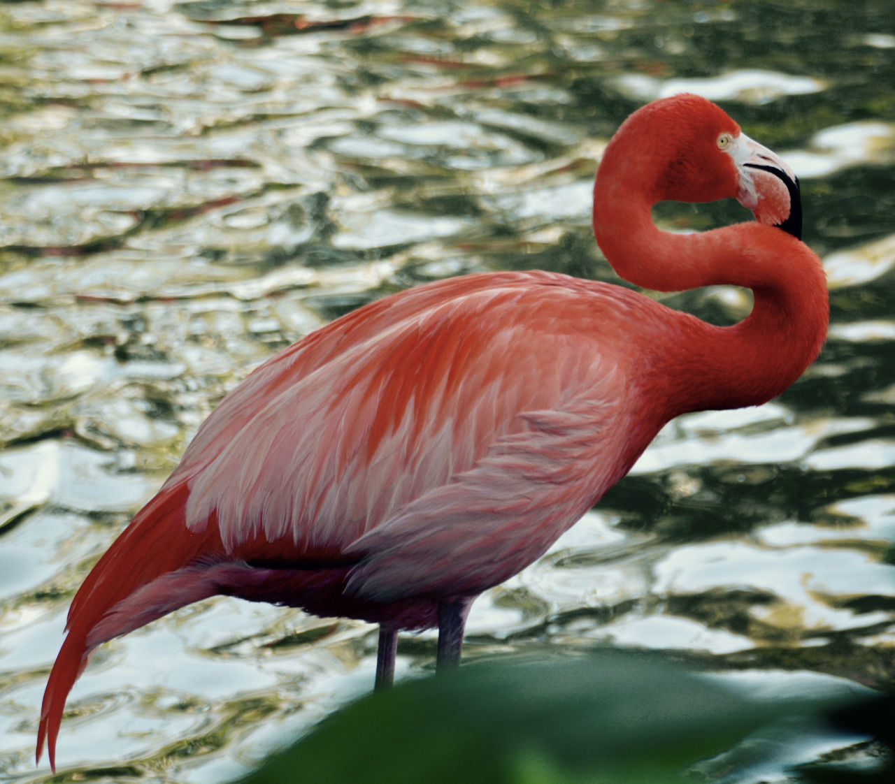
[[[590,235],[592,173],[626,114],[682,89],[797,169],[830,340],[763,408],[671,423],[476,603],[466,655],[645,647],[747,686],[891,690],[893,63],[884,2],[4,4],[0,776],[47,778],[34,733],[73,591],[217,400],[418,282],[617,281]],[[655,215],[696,230],[746,216]],[[748,309],[724,289],[661,299],[716,323]],[[99,650],[60,770],[233,778],[366,692],[374,651],[361,623],[185,608]],[[399,676],[433,652],[407,636]],[[741,780],[861,749],[794,743]]]

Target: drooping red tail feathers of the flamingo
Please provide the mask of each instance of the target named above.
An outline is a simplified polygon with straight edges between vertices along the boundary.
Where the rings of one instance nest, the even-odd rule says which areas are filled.
[[[50,672],[40,709],[37,761],[46,741],[53,771],[65,700],[94,648],[216,593],[213,585],[197,580],[196,570],[189,569],[190,564],[223,548],[216,525],[209,524],[200,534],[186,527],[188,493],[185,482],[158,493],[99,559],[75,594],[65,627],[68,634]]]

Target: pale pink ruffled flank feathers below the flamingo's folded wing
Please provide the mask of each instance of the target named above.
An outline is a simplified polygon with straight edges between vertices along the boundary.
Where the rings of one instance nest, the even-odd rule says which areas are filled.
[[[603,375],[592,392],[617,383],[612,373]],[[618,478],[618,464],[602,458],[631,445],[613,397],[518,414],[516,431],[492,443],[473,468],[348,548],[364,556],[349,594],[392,602],[450,586],[456,595],[474,595],[524,569]]]

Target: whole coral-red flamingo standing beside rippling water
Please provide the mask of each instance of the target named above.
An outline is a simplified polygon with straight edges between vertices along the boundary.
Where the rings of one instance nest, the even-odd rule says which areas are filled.
[[[753,220],[663,231],[665,200],[735,198]],[[593,190],[596,241],[652,291],[733,285],[711,325],[644,293],[494,271],[372,301],[247,375],[75,594],[47,681],[37,761],[98,645],[223,594],[379,625],[375,688],[400,630],[460,661],[473,600],[537,560],[686,412],[759,405],[823,347],[821,260],[796,174],[693,94],[636,109]]]

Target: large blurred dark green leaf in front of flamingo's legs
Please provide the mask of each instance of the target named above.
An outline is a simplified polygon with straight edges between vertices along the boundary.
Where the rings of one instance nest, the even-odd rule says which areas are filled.
[[[754,729],[828,708],[753,702],[655,655],[503,660],[365,696],[244,784],[675,784]]]

